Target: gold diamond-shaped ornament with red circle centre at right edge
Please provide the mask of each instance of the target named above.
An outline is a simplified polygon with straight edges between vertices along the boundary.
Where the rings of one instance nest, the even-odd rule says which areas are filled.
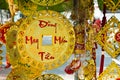
[[[117,57],[120,53],[119,34],[120,22],[115,16],[112,16],[95,38],[103,49],[113,58]]]

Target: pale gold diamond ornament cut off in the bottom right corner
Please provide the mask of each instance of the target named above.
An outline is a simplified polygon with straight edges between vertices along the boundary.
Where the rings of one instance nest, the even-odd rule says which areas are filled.
[[[111,64],[100,74],[97,80],[117,80],[120,77],[120,67],[115,63]]]

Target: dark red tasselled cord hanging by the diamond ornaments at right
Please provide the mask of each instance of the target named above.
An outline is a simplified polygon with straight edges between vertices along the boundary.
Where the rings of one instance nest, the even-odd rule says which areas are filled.
[[[102,19],[102,27],[104,27],[105,23],[106,23],[106,5],[103,4],[103,19]],[[104,34],[103,34],[103,42],[104,42]],[[102,48],[102,55],[101,55],[101,62],[100,62],[100,70],[99,70],[99,74],[101,74],[103,72],[103,68],[104,68],[104,49]]]

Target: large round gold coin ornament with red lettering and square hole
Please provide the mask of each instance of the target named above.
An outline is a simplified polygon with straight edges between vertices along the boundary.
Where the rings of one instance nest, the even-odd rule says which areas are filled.
[[[21,63],[50,70],[61,66],[71,56],[75,33],[71,23],[60,13],[50,10],[35,12],[17,33]]]

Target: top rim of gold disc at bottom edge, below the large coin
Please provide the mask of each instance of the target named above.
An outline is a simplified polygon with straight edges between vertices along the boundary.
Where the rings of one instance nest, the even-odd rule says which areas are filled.
[[[36,78],[35,80],[64,80],[64,79],[62,79],[60,76],[56,74],[44,74]]]

